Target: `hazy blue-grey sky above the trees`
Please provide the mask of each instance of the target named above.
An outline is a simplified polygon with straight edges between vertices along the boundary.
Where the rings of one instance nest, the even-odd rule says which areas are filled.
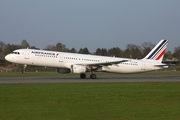
[[[180,0],[0,0],[0,41],[40,49],[156,44],[180,46]]]

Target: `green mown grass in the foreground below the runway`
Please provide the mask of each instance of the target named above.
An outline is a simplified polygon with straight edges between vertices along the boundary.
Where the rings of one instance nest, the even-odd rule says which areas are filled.
[[[180,83],[0,84],[0,119],[179,120]]]

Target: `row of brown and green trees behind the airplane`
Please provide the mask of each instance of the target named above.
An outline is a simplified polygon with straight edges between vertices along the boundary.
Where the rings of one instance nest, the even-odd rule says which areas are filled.
[[[135,44],[128,44],[126,45],[125,50],[122,50],[119,47],[113,47],[109,49],[97,48],[94,53],[91,53],[86,47],[80,48],[79,51],[77,51],[75,48],[69,49],[66,47],[66,45],[58,42],[56,45],[46,46],[44,50],[141,59],[145,57],[154,46],[155,44],[151,42],[144,42],[141,44],[141,46]],[[26,40],[22,40],[20,45],[14,45],[10,43],[6,44],[5,42],[0,41],[0,58],[4,58],[5,55],[19,48],[39,49],[36,48],[36,46],[30,46]],[[171,51],[166,51],[164,59],[180,60],[180,46],[175,47],[173,53]]]

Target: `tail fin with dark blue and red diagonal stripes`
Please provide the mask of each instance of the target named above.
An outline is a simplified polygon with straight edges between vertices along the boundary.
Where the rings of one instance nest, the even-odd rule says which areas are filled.
[[[167,44],[168,40],[160,40],[159,43],[143,59],[154,60],[161,63],[166,52]]]

